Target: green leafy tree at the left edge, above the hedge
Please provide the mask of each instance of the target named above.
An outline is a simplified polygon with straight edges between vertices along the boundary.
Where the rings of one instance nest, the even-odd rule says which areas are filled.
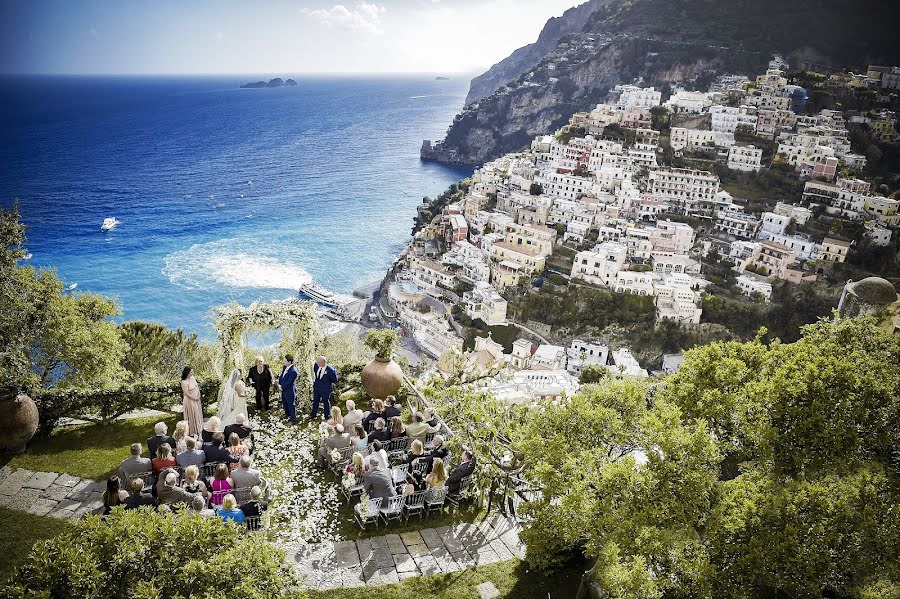
[[[115,302],[64,293],[53,271],[19,266],[24,228],[17,208],[0,212],[0,371],[3,384],[109,387],[122,376],[125,344],[110,320]]]

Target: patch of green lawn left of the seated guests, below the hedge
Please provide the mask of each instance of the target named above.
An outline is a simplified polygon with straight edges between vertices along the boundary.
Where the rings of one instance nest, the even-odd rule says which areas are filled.
[[[64,472],[72,476],[103,480],[116,472],[129,456],[132,443],[147,451],[147,437],[159,416],[117,420],[107,425],[85,424],[56,429],[47,439],[34,439],[28,451],[10,460],[13,468],[36,472]],[[163,417],[169,431],[175,430],[177,415]]]

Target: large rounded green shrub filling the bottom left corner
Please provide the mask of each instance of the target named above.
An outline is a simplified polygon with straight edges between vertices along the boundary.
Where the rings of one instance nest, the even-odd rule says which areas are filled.
[[[219,518],[116,508],[37,543],[12,597],[292,597],[306,594],[281,550]]]

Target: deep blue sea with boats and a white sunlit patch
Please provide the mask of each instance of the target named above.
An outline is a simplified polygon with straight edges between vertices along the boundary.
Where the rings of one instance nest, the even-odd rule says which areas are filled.
[[[0,202],[18,199],[32,263],[116,297],[121,320],[203,337],[229,300],[379,280],[422,197],[471,174],[418,156],[467,81],[239,89],[261,78],[0,78]]]

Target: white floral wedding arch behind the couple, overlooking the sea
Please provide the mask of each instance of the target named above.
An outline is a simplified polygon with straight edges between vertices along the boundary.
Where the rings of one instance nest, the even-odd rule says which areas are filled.
[[[315,359],[316,346],[322,338],[321,326],[313,302],[285,301],[273,303],[254,302],[242,306],[231,302],[216,309],[213,328],[219,334],[220,355],[216,360],[217,373],[225,380],[225,373],[233,368],[248,367],[245,338],[249,333],[267,333],[280,330],[279,355],[293,354],[297,365],[297,411],[308,408],[312,399],[312,374],[309,365]],[[272,374],[277,377],[280,363],[272,364]],[[219,393],[221,397],[221,391]]]

